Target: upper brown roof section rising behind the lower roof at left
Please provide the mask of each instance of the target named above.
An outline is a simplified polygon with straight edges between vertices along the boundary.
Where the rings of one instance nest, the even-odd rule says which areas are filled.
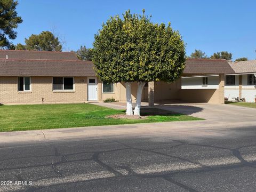
[[[74,52],[0,50],[0,58],[6,59],[78,60]]]

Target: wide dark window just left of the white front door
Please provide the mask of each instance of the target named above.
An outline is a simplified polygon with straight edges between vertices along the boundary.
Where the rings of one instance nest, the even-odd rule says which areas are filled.
[[[53,77],[53,90],[74,90],[74,77]]]

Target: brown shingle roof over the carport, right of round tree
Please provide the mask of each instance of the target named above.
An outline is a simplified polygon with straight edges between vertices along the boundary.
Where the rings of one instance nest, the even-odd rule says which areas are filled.
[[[187,59],[183,74],[231,74],[235,71],[225,59]]]

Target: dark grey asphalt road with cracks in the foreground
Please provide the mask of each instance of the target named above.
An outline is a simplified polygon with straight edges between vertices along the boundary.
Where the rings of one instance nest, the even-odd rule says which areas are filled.
[[[256,126],[0,144],[0,191],[256,191],[255,136]]]

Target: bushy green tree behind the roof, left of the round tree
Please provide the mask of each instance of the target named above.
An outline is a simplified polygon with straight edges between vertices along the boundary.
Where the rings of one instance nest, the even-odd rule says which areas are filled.
[[[35,50],[35,51],[62,51],[62,45],[58,37],[55,37],[51,31],[42,31],[39,35],[32,34],[28,39],[25,38],[25,45],[17,44],[17,50]]]

